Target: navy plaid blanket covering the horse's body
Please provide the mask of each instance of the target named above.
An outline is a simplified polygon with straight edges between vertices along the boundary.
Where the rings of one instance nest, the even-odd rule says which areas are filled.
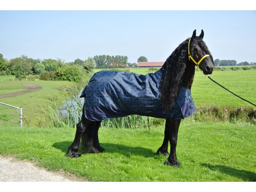
[[[195,113],[191,91],[181,87],[171,111],[160,100],[162,70],[145,76],[137,73],[100,71],[81,93],[84,115],[92,121],[137,114],[164,119],[184,119]]]

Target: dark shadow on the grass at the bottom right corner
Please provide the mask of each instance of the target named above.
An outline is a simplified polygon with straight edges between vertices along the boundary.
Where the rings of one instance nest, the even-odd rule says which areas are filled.
[[[221,173],[241,178],[244,181],[256,181],[256,173],[253,173],[253,172],[249,172],[241,169],[234,169],[234,168],[223,166],[223,165],[211,165],[207,163],[202,163],[201,165],[213,171],[218,170]]]

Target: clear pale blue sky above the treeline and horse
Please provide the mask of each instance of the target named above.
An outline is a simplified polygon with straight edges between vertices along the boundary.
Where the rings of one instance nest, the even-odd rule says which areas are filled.
[[[0,53],[8,60],[94,55],[166,61],[194,29],[214,59],[256,62],[256,11],[0,11]]]

